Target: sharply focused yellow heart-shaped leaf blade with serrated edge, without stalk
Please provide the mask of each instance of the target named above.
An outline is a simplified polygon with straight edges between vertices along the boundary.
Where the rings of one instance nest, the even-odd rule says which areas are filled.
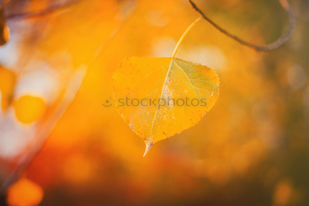
[[[144,139],[145,154],[155,142],[199,122],[219,95],[214,69],[173,57],[126,58],[113,86],[117,109]]]

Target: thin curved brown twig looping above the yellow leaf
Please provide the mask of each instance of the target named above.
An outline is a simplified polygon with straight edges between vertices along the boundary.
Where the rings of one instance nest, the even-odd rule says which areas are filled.
[[[289,21],[290,21],[289,28],[286,30],[286,32],[284,32],[273,43],[270,43],[270,44],[267,44],[267,45],[254,45],[254,44],[251,44],[247,41],[240,39],[239,37],[231,34],[230,32],[226,31],[225,29],[221,28],[220,26],[218,26],[218,24],[214,23],[211,19],[209,19],[191,0],[188,0],[188,2],[191,4],[192,8],[195,11],[197,11],[197,13],[199,13],[203,19],[205,19],[212,26],[214,26],[214,28],[218,29],[220,32],[222,32],[226,36],[234,39],[235,41],[239,42],[240,44],[248,46],[248,47],[255,49],[257,51],[270,51],[270,50],[273,50],[273,49],[277,49],[278,47],[280,47],[281,45],[286,43],[286,41],[289,40],[289,38],[292,35],[294,28],[295,28],[295,16],[294,16],[294,13],[293,13],[293,11],[290,7],[290,4],[287,2],[287,0],[279,0],[281,6],[284,8],[284,10],[286,10],[286,12],[289,15]]]

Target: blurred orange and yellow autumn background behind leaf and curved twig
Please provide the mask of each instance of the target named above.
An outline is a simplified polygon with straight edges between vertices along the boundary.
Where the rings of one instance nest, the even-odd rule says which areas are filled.
[[[276,40],[288,21],[276,0],[194,2],[256,44]],[[214,68],[219,98],[142,157],[142,138],[101,104],[123,58],[171,56],[198,17],[188,2],[11,0],[11,39],[0,47],[0,184],[47,139],[0,204],[309,205],[309,2],[290,2],[296,30],[267,53],[206,21],[192,28],[176,57]]]

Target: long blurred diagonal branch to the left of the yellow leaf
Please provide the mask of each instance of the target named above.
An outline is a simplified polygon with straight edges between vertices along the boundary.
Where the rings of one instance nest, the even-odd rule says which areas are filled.
[[[79,0],[77,0],[79,1]],[[76,2],[76,1],[75,1]],[[61,7],[63,8],[63,7]],[[119,32],[119,30],[123,27],[126,20],[129,19],[129,16],[133,13],[135,8],[135,0],[129,2],[128,5],[125,5],[125,8],[121,11],[121,13],[116,18],[122,18],[124,21],[114,32],[112,32],[108,42]],[[54,10],[53,10],[54,11]],[[91,61],[94,61],[98,58],[99,53],[107,47],[107,44],[102,44],[99,46],[94,58]],[[72,101],[74,100],[84,78],[87,73],[86,68],[79,68],[77,71],[74,72],[68,84],[66,85],[66,89],[60,102],[57,105],[57,108],[54,110],[53,114],[41,125],[38,131],[35,134],[35,138],[33,138],[32,142],[28,145],[25,153],[19,159],[18,163],[16,164],[15,168],[6,178],[5,182],[0,185],[0,200],[5,195],[7,188],[14,183],[23,171],[28,167],[30,162],[33,158],[38,154],[42,146],[44,145],[46,139],[53,131],[54,127],[56,127],[59,119],[63,116],[66,112],[67,108],[70,106]]]

